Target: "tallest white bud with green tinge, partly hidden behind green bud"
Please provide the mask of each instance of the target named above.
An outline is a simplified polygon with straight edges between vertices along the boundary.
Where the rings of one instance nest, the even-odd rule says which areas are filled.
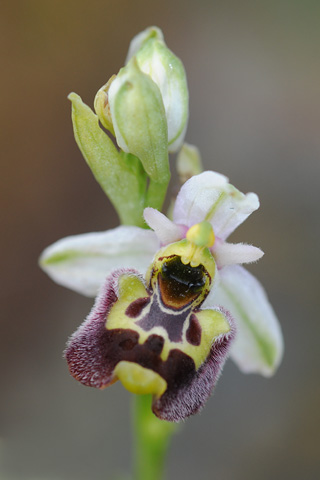
[[[135,56],[139,68],[158,85],[168,124],[169,151],[179,150],[188,122],[188,87],[182,62],[164,42],[157,27],[149,27],[131,41],[126,62]]]

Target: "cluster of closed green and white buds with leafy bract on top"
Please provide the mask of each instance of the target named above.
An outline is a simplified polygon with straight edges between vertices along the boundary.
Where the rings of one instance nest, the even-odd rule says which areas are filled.
[[[181,61],[161,30],[150,27],[133,38],[126,65],[98,90],[95,113],[75,93],[69,99],[75,139],[96,180],[123,224],[143,226],[143,209],[162,207],[169,152],[180,150],[187,128]]]

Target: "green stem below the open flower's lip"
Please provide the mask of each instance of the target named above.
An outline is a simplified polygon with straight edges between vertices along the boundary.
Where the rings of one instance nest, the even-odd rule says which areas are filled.
[[[169,440],[176,425],[159,420],[151,410],[151,395],[135,395],[134,480],[162,480]]]

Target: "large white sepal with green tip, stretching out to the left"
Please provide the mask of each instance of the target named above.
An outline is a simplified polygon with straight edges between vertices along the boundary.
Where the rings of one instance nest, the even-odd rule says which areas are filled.
[[[144,274],[158,248],[151,230],[121,226],[58,240],[44,250],[40,266],[60,285],[94,297],[116,268],[136,268]]]

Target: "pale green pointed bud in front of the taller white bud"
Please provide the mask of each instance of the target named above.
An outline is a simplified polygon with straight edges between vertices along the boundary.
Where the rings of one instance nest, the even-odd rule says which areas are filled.
[[[134,57],[108,91],[117,143],[136,155],[155,182],[169,180],[167,122],[161,93]]]

